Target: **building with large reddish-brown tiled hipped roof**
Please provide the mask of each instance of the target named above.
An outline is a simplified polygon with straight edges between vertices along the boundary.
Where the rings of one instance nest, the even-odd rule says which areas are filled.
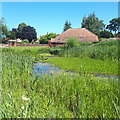
[[[80,42],[99,42],[98,36],[86,28],[71,28],[56,38],[51,38],[51,43],[58,46],[63,45],[69,37],[76,37]]]

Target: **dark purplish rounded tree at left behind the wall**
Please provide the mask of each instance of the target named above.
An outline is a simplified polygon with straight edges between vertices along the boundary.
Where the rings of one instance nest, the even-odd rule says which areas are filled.
[[[32,42],[32,40],[35,41],[37,39],[36,30],[31,26],[24,26],[19,32],[19,38],[28,39],[29,42]]]

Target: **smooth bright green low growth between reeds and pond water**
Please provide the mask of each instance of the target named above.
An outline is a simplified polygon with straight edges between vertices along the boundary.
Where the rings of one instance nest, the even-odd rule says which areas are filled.
[[[54,57],[46,60],[61,69],[78,73],[118,75],[118,64],[91,58]]]

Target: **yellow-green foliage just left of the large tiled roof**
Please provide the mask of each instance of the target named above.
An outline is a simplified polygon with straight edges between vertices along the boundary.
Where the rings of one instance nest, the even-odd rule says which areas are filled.
[[[40,43],[42,44],[47,44],[49,40],[51,40],[51,38],[55,38],[56,36],[58,36],[59,34],[56,33],[49,33],[46,35],[42,35],[40,36]]]

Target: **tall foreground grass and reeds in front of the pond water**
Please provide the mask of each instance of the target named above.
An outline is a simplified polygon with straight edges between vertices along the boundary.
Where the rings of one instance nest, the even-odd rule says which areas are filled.
[[[118,80],[32,76],[41,57],[3,51],[1,118],[119,118]]]

